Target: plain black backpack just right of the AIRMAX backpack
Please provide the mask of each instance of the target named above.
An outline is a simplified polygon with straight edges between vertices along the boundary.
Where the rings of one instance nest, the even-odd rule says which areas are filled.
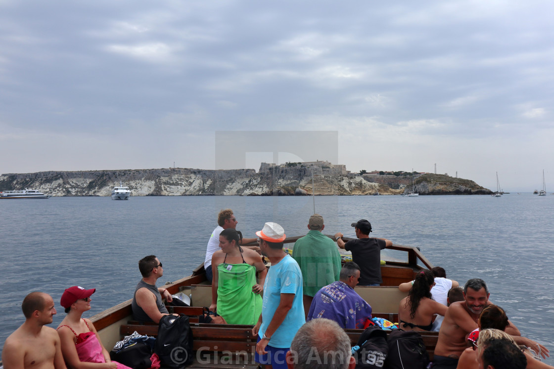
[[[397,329],[389,333],[387,368],[425,369],[427,365],[429,354],[418,332]]]

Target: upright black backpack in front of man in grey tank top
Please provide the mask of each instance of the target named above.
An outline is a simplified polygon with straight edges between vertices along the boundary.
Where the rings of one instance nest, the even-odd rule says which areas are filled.
[[[182,369],[191,365],[192,331],[186,315],[164,315],[158,325],[154,352],[163,368]]]

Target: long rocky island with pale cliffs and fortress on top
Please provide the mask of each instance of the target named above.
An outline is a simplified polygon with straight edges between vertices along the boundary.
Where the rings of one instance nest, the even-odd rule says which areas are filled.
[[[41,171],[2,174],[0,191],[28,188],[53,196],[110,196],[120,181],[131,189],[131,196],[399,195],[412,189],[412,173],[394,173],[350,173],[345,165],[319,160],[262,163],[258,173],[254,169],[188,168]],[[491,194],[474,181],[444,174],[414,174],[414,183],[420,195]]]

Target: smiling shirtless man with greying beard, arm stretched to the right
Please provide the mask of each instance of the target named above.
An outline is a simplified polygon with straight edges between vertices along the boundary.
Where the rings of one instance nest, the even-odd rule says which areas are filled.
[[[489,301],[489,289],[483,279],[473,278],[464,286],[464,301],[451,304],[440,326],[439,338],[435,347],[433,369],[455,369],[461,353],[466,349],[468,334],[477,328],[477,320]],[[516,326],[508,321],[506,333],[514,337],[517,344],[537,347],[537,342],[521,337]],[[539,345],[541,352],[548,356],[546,347]]]

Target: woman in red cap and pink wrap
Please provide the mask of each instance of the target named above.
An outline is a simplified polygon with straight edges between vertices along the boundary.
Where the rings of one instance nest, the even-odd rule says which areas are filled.
[[[67,315],[57,331],[65,363],[74,369],[130,369],[110,360],[93,323],[81,318],[85,311],[90,310],[90,296],[95,291],[95,288],[84,289],[75,285],[61,295],[60,304]]]

